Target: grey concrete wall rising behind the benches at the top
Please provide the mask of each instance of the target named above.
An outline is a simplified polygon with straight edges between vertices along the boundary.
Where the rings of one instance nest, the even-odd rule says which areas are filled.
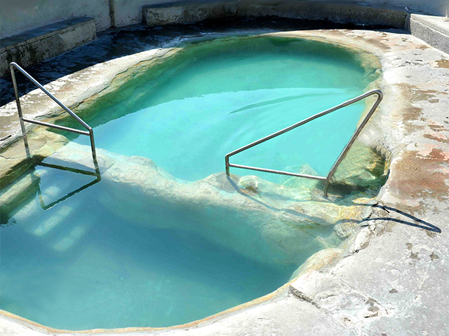
[[[95,18],[97,31],[111,27],[109,3],[117,27],[142,21],[142,5],[179,2],[180,0],[0,0],[0,38],[20,34],[49,23],[74,17]],[[199,0],[209,2],[213,0]],[[297,0],[301,1],[301,0]],[[329,0],[314,0],[317,3]],[[185,2],[185,1],[183,1]],[[279,1],[282,3],[282,0]],[[334,0],[334,2],[371,3],[376,6],[423,10],[434,15],[446,15],[449,0]]]

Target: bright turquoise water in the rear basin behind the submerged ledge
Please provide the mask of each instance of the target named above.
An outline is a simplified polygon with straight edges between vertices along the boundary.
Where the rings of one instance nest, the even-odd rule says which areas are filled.
[[[98,148],[151,158],[187,181],[222,172],[230,151],[356,97],[367,84],[354,54],[293,38],[200,43],[166,63],[94,105],[89,114],[100,114],[88,122]],[[364,106],[331,113],[232,162],[290,172],[307,164],[325,176]],[[87,137],[75,141],[88,144]]]

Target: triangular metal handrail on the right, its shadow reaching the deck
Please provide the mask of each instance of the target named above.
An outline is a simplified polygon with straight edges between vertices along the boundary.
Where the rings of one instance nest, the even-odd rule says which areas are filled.
[[[243,151],[246,151],[248,148],[257,146],[258,144],[262,144],[262,142],[268,141],[269,139],[273,139],[274,137],[277,137],[281,134],[284,134],[288,131],[294,130],[296,127],[300,127],[301,125],[304,125],[306,123],[309,123],[311,120],[315,120],[316,118],[326,116],[326,114],[332,113],[334,111],[340,110],[343,107],[346,107],[348,105],[354,104],[356,102],[361,101],[362,99],[365,99],[367,97],[372,96],[373,94],[377,94],[376,102],[374,103],[373,107],[371,107],[370,111],[366,115],[365,118],[363,118],[363,121],[361,124],[357,127],[356,132],[352,134],[351,139],[347,143],[347,145],[344,147],[342,153],[340,153],[340,156],[335,161],[334,165],[330,169],[330,172],[328,176],[314,176],[314,175],[307,175],[307,174],[297,174],[297,173],[290,173],[290,172],[283,172],[281,170],[274,170],[274,169],[266,169],[266,168],[259,168],[259,167],[251,167],[251,166],[244,166],[244,165],[234,165],[233,163],[229,163],[229,158],[232,157],[232,155],[236,155],[238,153],[241,153]],[[335,171],[337,170],[338,165],[342,162],[344,157],[347,155],[347,152],[349,151],[349,148],[351,148],[352,144],[354,144],[354,141],[356,141],[356,137],[358,137],[358,134],[360,134],[363,127],[365,127],[366,123],[368,123],[368,120],[373,116],[374,111],[377,109],[377,106],[379,106],[380,102],[382,101],[384,97],[384,94],[380,90],[371,90],[369,92],[366,92],[364,94],[361,94],[360,96],[350,99],[347,102],[344,102],[340,105],[334,106],[332,109],[328,109],[326,111],[316,113],[314,116],[311,116],[309,118],[306,118],[304,120],[301,120],[299,123],[295,123],[289,127],[284,128],[283,130],[280,130],[278,132],[274,132],[273,134],[270,134],[267,137],[264,137],[262,139],[259,139],[257,141],[252,142],[251,144],[248,144],[246,146],[243,146],[239,149],[236,149],[235,151],[232,151],[231,153],[228,153],[225,156],[225,166],[226,166],[226,174],[229,176],[229,167],[236,167],[236,168],[242,168],[242,169],[250,169],[250,170],[256,170],[258,172],[267,172],[267,173],[273,173],[273,174],[281,174],[281,175],[288,175],[288,176],[296,176],[296,177],[304,177],[306,179],[316,179],[320,181],[324,181],[324,196],[327,197],[328,195],[328,188],[330,179],[332,179],[332,176],[335,174]]]

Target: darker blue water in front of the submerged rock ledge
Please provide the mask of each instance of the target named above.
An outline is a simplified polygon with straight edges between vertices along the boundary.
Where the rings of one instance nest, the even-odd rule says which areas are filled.
[[[93,180],[36,174],[45,204]],[[123,221],[98,202],[103,192],[100,182],[46,211],[36,195],[0,228],[0,309],[69,330],[170,326],[270,293],[297,267],[264,265],[188,230]],[[154,222],[184,216],[159,211]]]

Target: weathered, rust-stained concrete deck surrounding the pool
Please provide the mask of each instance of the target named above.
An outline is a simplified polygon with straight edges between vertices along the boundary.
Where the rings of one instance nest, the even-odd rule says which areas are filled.
[[[62,102],[69,102],[69,106],[76,106],[105,90],[117,73],[155,54],[164,55],[162,48],[175,46],[186,36],[281,31],[276,35],[314,38],[371,52],[382,64],[380,87],[386,98],[376,119],[363,132],[362,140],[391,155],[387,183],[375,204],[371,204],[356,235],[343,246],[342,253],[333,258],[312,256],[302,267],[299,278],[276,295],[179,328],[98,332],[101,335],[118,332],[124,335],[447,335],[449,55],[397,29],[298,30],[300,27],[288,20],[283,27],[273,23],[270,27],[269,22],[273,20],[264,21],[264,29],[257,29],[261,22],[253,20],[246,22],[247,27],[232,29],[196,25],[182,29],[136,26],[110,31],[99,34],[97,41],[58,57],[58,63],[62,64],[58,69],[53,62],[46,62],[35,66],[32,75],[38,80],[41,76],[48,78],[51,92]],[[148,31],[152,34],[147,34]],[[125,36],[135,45],[126,44]],[[107,47],[102,45],[114,40],[116,43]],[[118,58],[117,54],[123,57]],[[133,55],[126,57],[127,54]],[[80,55],[91,58],[87,57],[85,63],[75,61]],[[107,64],[91,66],[106,59],[110,59]],[[54,81],[56,78],[59,79]],[[88,84],[80,87],[77,83]],[[41,106],[41,111],[50,107],[36,92],[28,94],[23,102],[24,111],[31,106],[34,109]],[[4,130],[2,123],[2,137],[12,135],[8,139],[18,133],[18,123],[9,123],[17,118],[14,104],[0,108],[0,116],[11,125]],[[11,141],[8,139],[5,141]],[[3,156],[2,160],[20,160],[25,151],[22,144],[18,148],[22,153],[18,149],[14,153],[17,158]],[[7,313],[0,316],[0,333],[67,335],[62,330],[46,329]],[[69,335],[77,333],[69,332]],[[81,333],[93,335],[96,331]]]

